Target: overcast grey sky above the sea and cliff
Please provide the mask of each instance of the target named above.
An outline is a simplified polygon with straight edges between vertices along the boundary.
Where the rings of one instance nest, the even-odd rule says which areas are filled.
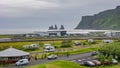
[[[119,5],[120,0],[0,0],[0,33],[32,32],[55,24],[74,29],[82,16]]]

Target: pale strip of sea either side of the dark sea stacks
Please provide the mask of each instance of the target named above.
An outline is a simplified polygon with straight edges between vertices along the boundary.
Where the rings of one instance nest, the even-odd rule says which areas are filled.
[[[0,34],[26,34],[34,32],[44,32],[48,29],[0,29]],[[65,29],[67,32],[111,32],[111,31],[120,31],[120,30],[90,30],[90,29]]]

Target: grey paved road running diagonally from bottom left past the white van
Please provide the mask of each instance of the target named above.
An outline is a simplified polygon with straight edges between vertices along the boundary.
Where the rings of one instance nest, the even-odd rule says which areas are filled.
[[[84,53],[84,54],[76,54],[76,55],[71,55],[69,57],[67,56],[61,56],[58,57],[56,60],[75,60],[75,59],[85,59],[85,58],[89,58],[91,57],[91,52],[90,53]],[[47,60],[47,59],[43,59],[43,60],[35,60],[35,61],[31,61],[28,65],[23,65],[23,66],[9,66],[9,67],[0,67],[0,68],[25,68],[26,66],[32,66],[32,65],[36,65],[36,64],[43,64],[43,63],[47,63],[47,62],[51,62],[51,61],[55,61],[55,60]]]

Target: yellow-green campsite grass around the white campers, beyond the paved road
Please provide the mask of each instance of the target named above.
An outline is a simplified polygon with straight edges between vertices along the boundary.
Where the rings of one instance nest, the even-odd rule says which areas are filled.
[[[72,42],[74,43],[74,41],[72,41]],[[86,40],[77,40],[77,41],[85,42]],[[102,45],[102,44],[99,43],[99,44],[83,45],[83,46],[74,46],[73,45],[72,47],[69,47],[69,48],[61,48],[60,47],[61,42],[62,41],[8,42],[8,43],[0,43],[0,50],[7,49],[10,46],[12,46],[13,48],[24,50],[24,51],[27,51],[27,52],[30,52],[30,53],[32,53],[32,52],[43,52],[43,47],[42,46],[44,44],[51,44],[52,46],[57,46],[58,47],[57,48],[58,51],[54,52],[54,54],[62,56],[62,55],[66,55],[67,52],[69,52],[70,54],[80,54],[80,53],[91,52],[91,51],[97,50],[99,48],[99,46]],[[29,44],[40,44],[40,48],[36,49],[36,50],[25,50],[25,49],[23,49],[24,45],[29,45]],[[53,52],[52,53],[47,53],[47,55],[49,55],[49,54],[53,54]],[[41,58],[42,56],[44,56],[46,54],[34,54],[34,53],[32,53],[31,55],[33,57],[37,56],[38,58]]]

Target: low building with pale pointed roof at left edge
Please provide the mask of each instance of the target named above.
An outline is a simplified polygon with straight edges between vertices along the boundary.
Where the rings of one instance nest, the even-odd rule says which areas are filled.
[[[12,47],[0,51],[0,64],[15,63],[16,61],[24,58],[29,58],[28,52],[24,52]]]

